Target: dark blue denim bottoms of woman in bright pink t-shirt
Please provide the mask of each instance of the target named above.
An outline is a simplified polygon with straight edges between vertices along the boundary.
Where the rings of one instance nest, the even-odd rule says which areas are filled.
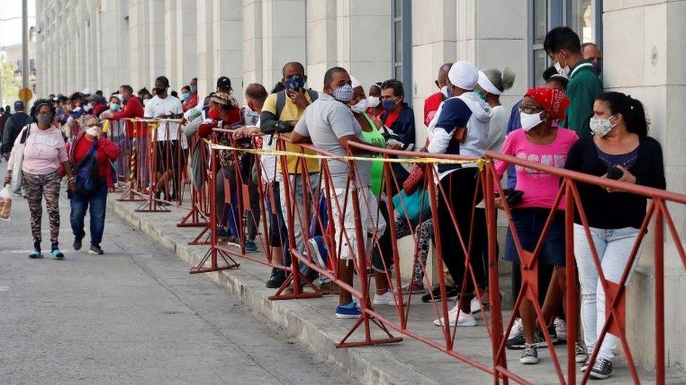
[[[541,237],[545,221],[550,215],[548,208],[517,208],[512,210],[512,222],[517,229],[519,243],[526,251],[533,252],[536,249],[538,238]],[[507,228],[505,236],[505,256],[508,262],[519,262],[519,254],[514,246],[512,231]],[[564,211],[558,210],[552,219],[552,225],[545,236],[538,262],[564,266]]]

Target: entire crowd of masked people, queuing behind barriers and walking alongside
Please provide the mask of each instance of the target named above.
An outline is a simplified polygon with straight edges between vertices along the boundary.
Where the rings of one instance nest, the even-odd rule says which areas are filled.
[[[186,137],[208,137],[214,128],[231,128],[233,134],[220,133],[220,144],[273,149],[273,137],[288,137],[285,150],[300,151],[298,144],[311,143],[332,154],[348,154],[351,142],[373,144],[387,149],[412,151],[415,144],[418,151],[430,154],[452,154],[460,156],[484,156],[484,151],[500,151],[545,166],[567,168],[590,175],[608,177],[623,182],[665,189],[664,166],[660,144],[648,135],[648,123],[640,101],[623,93],[603,93],[602,53],[594,44],[580,43],[578,35],[567,27],[552,29],[545,36],[543,44],[553,67],[545,70],[545,86],[527,90],[510,116],[500,103],[500,96],[514,84],[515,76],[509,69],[477,69],[471,62],[446,63],[439,68],[436,79],[436,93],[425,100],[423,123],[427,129],[427,140],[417,144],[415,137],[415,116],[405,101],[405,88],[397,79],[374,83],[365,89],[363,84],[342,67],[333,67],[325,73],[321,92],[306,86],[308,78],[304,66],[299,62],[288,62],[283,67],[283,79],[268,93],[258,83],[245,87],[245,106],[240,107],[233,95],[231,79],[221,76],[216,81],[216,91],[205,98],[198,97],[197,79],[181,88],[181,97],[169,91],[169,80],[159,76],[151,91],[143,88],[137,96],[131,86],[121,86],[117,93],[105,99],[102,93],[91,94],[89,90],[74,93],[70,97],[50,95],[47,100],[34,103],[30,116],[23,113],[21,102],[15,104],[16,113],[4,121],[4,135],[1,152],[8,158],[8,175],[5,184],[12,182],[12,168],[18,154],[15,148],[23,149],[21,176],[30,205],[31,229],[34,238],[34,252],[30,257],[41,256],[41,199],[45,197],[51,228],[51,255],[63,258],[58,248],[59,212],[58,196],[60,179],[66,175],[71,191],[71,222],[74,233],[74,248],[81,248],[86,209],[91,216],[91,252],[101,254],[105,219],[104,203],[107,187],[116,182],[112,179],[111,162],[119,154],[117,143],[102,135],[101,119],[117,121],[125,118],[181,119],[171,123],[165,130],[157,131],[158,146],[171,151],[186,149]],[[154,95],[154,96],[153,96]],[[82,117],[86,116],[85,119]],[[81,120],[81,124],[75,122]],[[22,128],[28,135],[22,135]],[[63,127],[60,130],[60,126]],[[182,134],[183,133],[183,134]],[[65,140],[67,144],[65,144]],[[121,142],[120,142],[121,143]],[[119,143],[119,144],[120,144]],[[25,146],[18,146],[25,144]],[[240,152],[240,151],[239,151]],[[312,154],[311,151],[304,151]],[[373,156],[358,151],[358,156]],[[240,169],[235,168],[238,156]],[[378,161],[356,161],[359,175],[356,189],[361,201],[363,233],[366,239],[355,236],[354,215],[351,215],[351,194],[347,194],[347,164],[328,159],[287,156],[285,175],[279,172],[276,156],[259,157],[261,174],[254,165],[257,156],[242,153],[236,155],[228,150],[219,154],[221,168],[217,176],[216,213],[221,238],[235,241],[238,238],[240,215],[236,210],[236,173],[247,181],[251,204],[259,202],[259,179],[266,186],[265,203],[268,207],[266,220],[269,222],[268,246],[273,262],[290,266],[295,249],[303,255],[313,252],[313,260],[325,269],[335,263],[328,257],[331,243],[342,244],[337,271],[339,279],[353,284],[354,251],[358,243],[378,239],[382,252],[370,253],[375,276],[376,292],[374,305],[395,306],[402,298],[396,297],[388,282],[393,263],[389,248],[389,221],[394,221],[397,238],[415,232],[418,255],[415,256],[412,279],[403,286],[403,292],[424,294],[422,301],[441,300],[441,291],[434,287],[425,294],[424,271],[429,245],[434,243],[432,221],[439,224],[440,242],[436,245],[441,254],[451,284],[446,288],[445,300],[456,300],[448,314],[450,326],[474,326],[474,313],[488,301],[488,262],[486,256],[486,213],[484,208],[475,208],[474,202],[482,199],[477,188],[476,163],[461,165],[439,164],[436,166],[437,184],[443,191],[449,191],[445,199],[438,200],[435,218],[422,218],[411,223],[404,217],[389,212],[384,199],[375,197],[387,194],[383,181],[383,166]],[[330,196],[337,199],[344,211],[333,210],[334,229],[311,226],[311,219],[295,217],[293,230],[295,247],[288,245],[285,234],[287,227],[286,202],[297,205],[297,211],[313,212],[317,205],[325,202],[306,199],[308,187],[316,187],[323,162],[331,177]],[[161,163],[161,162],[160,162]],[[191,167],[202,167],[191,162]],[[96,170],[84,172],[84,167],[94,166]],[[172,171],[182,165],[162,163],[157,172],[157,184],[148,186],[148,194],[160,196],[169,191],[166,184],[173,180],[174,193],[179,192],[179,181]],[[401,186],[413,179],[414,168],[393,163],[394,175]],[[61,171],[60,171],[61,170]],[[578,309],[564,306],[564,293],[576,290],[565,279],[565,271],[574,266],[565,266],[564,257],[564,204],[555,206],[559,190],[559,177],[522,166],[496,162],[499,176],[507,173],[505,196],[496,200],[496,206],[503,208],[505,201],[512,208],[512,223],[522,249],[533,252],[543,234],[545,222],[551,210],[554,212],[552,225],[547,230],[540,255],[538,256],[538,304],[523,299],[517,321],[509,331],[508,349],[522,349],[522,364],[538,363],[537,348],[545,346],[543,331],[549,330],[553,341],[576,339],[576,360],[581,370],[590,370],[590,376],[604,379],[612,373],[614,350],[618,337],[608,334],[600,347],[600,353],[591,365],[588,351],[593,351],[597,337],[606,320],[605,293],[595,269],[592,245],[585,236],[578,212],[575,212],[574,254],[578,270],[578,284],[581,300]],[[16,173],[14,173],[16,175]],[[84,175],[96,181],[84,193]],[[93,176],[95,175],[95,176]],[[306,175],[307,177],[304,177]],[[295,194],[295,200],[286,196],[283,179],[287,177]],[[225,191],[228,180],[229,190]],[[232,185],[233,183],[233,185]],[[77,185],[78,184],[78,185]],[[323,187],[322,187],[323,188]],[[422,189],[422,187],[419,187]],[[408,189],[408,187],[405,187]],[[233,191],[233,192],[230,192]],[[403,190],[404,191],[404,190]],[[593,243],[598,250],[604,277],[619,282],[633,243],[646,211],[646,198],[620,191],[611,191],[590,184],[579,183],[578,191],[585,207]],[[18,190],[15,190],[19,194]],[[399,194],[401,191],[392,191]],[[267,198],[268,197],[268,198]],[[167,197],[173,200],[174,196]],[[225,203],[226,202],[226,203]],[[380,207],[377,208],[377,203]],[[304,208],[304,205],[309,205]],[[245,250],[257,251],[255,236],[259,233],[259,206],[250,210],[247,222]],[[380,217],[377,217],[377,213]],[[257,214],[257,215],[256,215]],[[454,215],[454,219],[453,219]],[[457,229],[453,226],[456,219]],[[304,221],[304,223],[301,223]],[[472,224],[473,223],[473,224]],[[318,228],[319,227],[319,228]],[[413,229],[415,227],[415,230]],[[304,231],[303,229],[311,229]],[[346,231],[347,236],[342,236]],[[462,236],[472,234],[473,246],[465,255],[459,243],[458,231]],[[308,234],[309,233],[309,234]],[[521,255],[514,241],[515,234],[507,230],[504,245],[504,259],[513,265],[512,288],[514,300],[522,287]],[[307,244],[307,245],[306,245]],[[387,252],[384,252],[384,249]],[[349,252],[353,251],[353,254]],[[465,259],[469,259],[475,275],[475,283],[467,278],[464,295],[458,284],[463,282]],[[338,286],[316,271],[301,265],[302,273],[310,280],[321,279],[324,292],[339,295],[335,315],[339,318],[361,316],[358,302],[347,290]],[[285,271],[274,268],[266,281],[268,288],[279,288],[285,281]],[[457,283],[457,284],[455,284]],[[536,319],[536,306],[541,306],[545,325]],[[581,314],[582,332],[578,336],[565,336],[564,319]],[[444,319],[434,324],[445,327]],[[590,367],[590,369],[589,369]]]

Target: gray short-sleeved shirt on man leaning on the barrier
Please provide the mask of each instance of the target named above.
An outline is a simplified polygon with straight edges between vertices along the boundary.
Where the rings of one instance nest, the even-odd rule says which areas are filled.
[[[320,93],[319,98],[305,109],[305,113],[295,126],[295,132],[309,137],[315,147],[337,156],[346,156],[347,150],[341,147],[339,138],[355,135],[364,142],[362,128],[350,109],[335,100],[331,95]],[[348,179],[348,164],[337,159],[327,160],[333,187],[344,189]],[[370,186],[372,162],[356,161],[360,186]]]

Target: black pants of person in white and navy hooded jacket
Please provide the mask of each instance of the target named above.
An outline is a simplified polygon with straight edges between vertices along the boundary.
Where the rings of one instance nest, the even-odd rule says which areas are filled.
[[[441,187],[446,194],[439,191],[438,198],[438,225],[441,231],[441,252],[444,263],[448,267],[453,281],[458,288],[462,288],[462,279],[465,277],[465,253],[455,231],[455,225],[451,218],[448,207],[453,209],[455,219],[458,222],[458,229],[465,245],[470,241],[470,227],[472,224],[472,210],[474,210],[474,195],[477,194],[477,168],[460,168],[455,170],[441,180]],[[477,203],[481,201],[481,191],[477,196]],[[470,253],[470,263],[474,270],[474,277],[479,286],[488,284],[488,238],[486,234],[486,215],[485,210],[477,209],[474,212],[474,229],[472,234],[472,250]],[[472,277],[467,275],[467,286],[465,293],[474,291]]]

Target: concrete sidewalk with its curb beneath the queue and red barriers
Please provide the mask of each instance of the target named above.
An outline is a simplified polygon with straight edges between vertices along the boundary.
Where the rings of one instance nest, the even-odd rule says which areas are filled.
[[[176,222],[186,213],[175,207],[170,212],[136,212],[140,203],[108,201],[108,208],[127,219],[145,234],[155,239],[165,248],[173,250],[188,264],[195,266],[207,251],[207,246],[189,246],[188,241],[198,235],[200,228],[178,228]],[[252,254],[260,257],[261,254]],[[270,269],[267,266],[238,258],[239,269],[205,273],[203,276],[225,288],[249,306],[252,311],[266,316],[273,325],[283,328],[287,335],[295,337],[325,360],[337,363],[347,373],[367,384],[486,384],[493,381],[485,372],[462,363],[460,360],[438,351],[427,344],[410,337],[404,337],[399,344],[352,349],[336,349],[335,344],[348,332],[352,320],[337,320],[334,316],[337,299],[323,297],[317,299],[292,299],[287,301],[270,301],[268,296],[274,290],[265,288]],[[190,266],[189,266],[190,268]],[[200,278],[200,277],[198,277]],[[408,316],[408,329],[427,336],[434,342],[443,344],[439,327],[432,324],[435,318],[433,306],[422,304],[419,297],[413,296],[412,308]],[[397,321],[398,316],[391,306],[381,306],[377,311],[390,320]],[[507,311],[503,316],[510,316]],[[454,350],[486,366],[492,365],[491,342],[488,332],[483,327],[484,319],[477,316],[478,327],[466,327],[458,330]],[[375,333],[382,337],[381,333]],[[394,332],[396,337],[403,337]],[[351,341],[361,338],[357,332]],[[556,353],[566,373],[566,345],[557,346]],[[541,363],[538,365],[519,364],[520,351],[507,352],[507,365],[513,372],[535,384],[558,384],[555,367],[547,349],[538,349]],[[581,372],[578,372],[581,377]],[[654,381],[654,372],[643,370],[640,377],[645,383]],[[670,382],[684,382],[682,372],[668,374]],[[621,359],[614,365],[614,374],[605,384],[631,382],[631,377]]]

